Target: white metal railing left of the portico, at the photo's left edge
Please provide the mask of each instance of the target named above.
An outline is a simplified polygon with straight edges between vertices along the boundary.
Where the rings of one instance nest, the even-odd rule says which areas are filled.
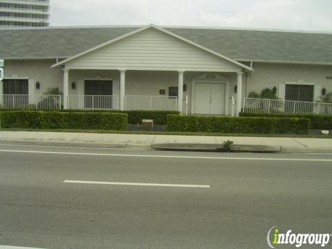
[[[61,95],[28,95],[28,94],[2,94],[0,95],[0,109],[61,109]]]

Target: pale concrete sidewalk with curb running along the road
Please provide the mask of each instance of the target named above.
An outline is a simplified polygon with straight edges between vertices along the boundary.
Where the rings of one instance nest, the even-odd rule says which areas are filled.
[[[229,136],[168,136],[111,133],[64,133],[1,131],[1,144],[104,147],[122,149],[163,149],[218,151],[223,142],[234,142],[232,151],[274,153],[332,153],[332,139],[264,138]]]

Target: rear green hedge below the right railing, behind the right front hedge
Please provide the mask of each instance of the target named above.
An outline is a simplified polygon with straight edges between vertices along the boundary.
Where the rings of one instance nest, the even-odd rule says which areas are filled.
[[[241,117],[266,117],[266,118],[308,118],[311,120],[311,129],[332,129],[332,116],[318,114],[292,115],[282,113],[240,113]]]

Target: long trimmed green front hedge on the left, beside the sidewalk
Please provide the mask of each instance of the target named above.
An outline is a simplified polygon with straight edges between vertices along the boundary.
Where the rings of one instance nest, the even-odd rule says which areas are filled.
[[[1,127],[21,129],[127,130],[125,113],[75,113],[61,111],[1,111]]]

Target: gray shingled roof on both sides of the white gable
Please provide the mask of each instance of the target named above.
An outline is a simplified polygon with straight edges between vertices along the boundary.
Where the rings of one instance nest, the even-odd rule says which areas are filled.
[[[66,58],[139,27],[0,29],[4,59]],[[238,61],[332,64],[332,34],[216,28],[166,28]]]

